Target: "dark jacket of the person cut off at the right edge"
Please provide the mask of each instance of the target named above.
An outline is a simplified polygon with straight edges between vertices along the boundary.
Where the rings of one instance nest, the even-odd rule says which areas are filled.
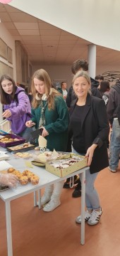
[[[111,87],[111,90],[109,92],[107,115],[110,124],[113,123],[114,117],[117,117],[119,119],[120,124],[120,81],[117,81],[116,84]]]

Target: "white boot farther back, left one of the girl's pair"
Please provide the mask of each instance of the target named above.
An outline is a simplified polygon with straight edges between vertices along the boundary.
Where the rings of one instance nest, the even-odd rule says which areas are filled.
[[[52,192],[53,192],[54,186],[49,185],[45,188],[44,194],[41,198],[41,205],[44,206],[45,203],[48,203],[51,199]],[[37,206],[39,206],[39,203],[37,202]]]

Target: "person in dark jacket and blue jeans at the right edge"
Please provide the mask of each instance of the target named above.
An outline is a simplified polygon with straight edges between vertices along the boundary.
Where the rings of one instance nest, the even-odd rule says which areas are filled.
[[[120,155],[120,81],[110,89],[107,115],[112,128],[108,169],[115,173],[119,166]]]

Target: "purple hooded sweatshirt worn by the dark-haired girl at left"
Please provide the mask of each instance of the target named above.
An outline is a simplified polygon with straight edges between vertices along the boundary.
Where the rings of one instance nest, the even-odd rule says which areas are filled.
[[[23,88],[17,87],[16,94],[18,94],[18,105],[16,100],[12,100],[10,105],[4,105],[4,111],[11,111],[11,117],[6,119],[11,122],[12,132],[19,134],[25,130],[25,122],[31,119],[31,106],[28,95],[25,94]]]

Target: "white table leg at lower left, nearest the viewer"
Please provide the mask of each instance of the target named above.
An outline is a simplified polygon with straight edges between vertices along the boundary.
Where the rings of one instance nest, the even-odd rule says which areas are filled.
[[[13,256],[12,233],[11,233],[11,202],[6,201],[5,206],[6,206],[6,236],[7,236],[8,256]]]

